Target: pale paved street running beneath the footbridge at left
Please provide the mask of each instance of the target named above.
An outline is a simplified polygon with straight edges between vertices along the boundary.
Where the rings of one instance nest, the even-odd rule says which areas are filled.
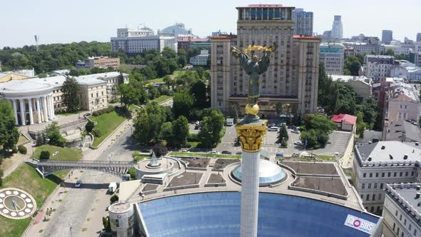
[[[123,129],[125,129],[123,131]],[[121,133],[121,131],[123,131]],[[87,150],[85,158],[88,160],[108,160],[108,154],[113,153],[114,161],[130,161],[131,153],[136,145],[130,137],[131,128],[128,124],[113,134],[113,136],[97,150]],[[81,188],[74,188],[73,183],[78,178],[82,180]],[[102,216],[109,205],[108,183],[120,182],[121,178],[111,176],[107,173],[97,171],[73,171],[71,181],[66,181],[68,193],[61,199],[61,205],[51,216],[48,226],[46,226],[42,236],[92,236],[93,233],[101,231]],[[103,200],[103,199],[106,200]],[[53,201],[54,198],[53,198]],[[92,206],[96,206],[92,208]],[[49,207],[49,206],[47,206]],[[98,211],[103,209],[103,211]],[[87,216],[89,216],[87,218]],[[41,236],[36,225],[31,228],[29,236]],[[34,235],[32,235],[32,233]],[[89,234],[88,234],[89,233]]]

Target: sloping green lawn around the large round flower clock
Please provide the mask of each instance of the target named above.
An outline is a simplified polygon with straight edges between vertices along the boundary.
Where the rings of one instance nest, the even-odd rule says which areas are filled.
[[[54,188],[61,182],[61,178],[64,178],[68,172],[59,171],[43,179],[36,173],[34,168],[24,163],[4,178],[3,186],[0,186],[0,188],[20,188],[34,196],[37,208],[41,208],[46,198],[54,191]],[[21,236],[30,222],[31,218],[12,220],[0,216],[0,236]]]

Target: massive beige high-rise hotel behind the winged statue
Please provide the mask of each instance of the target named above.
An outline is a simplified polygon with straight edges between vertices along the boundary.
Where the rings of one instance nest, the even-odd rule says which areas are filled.
[[[294,36],[293,7],[255,4],[237,9],[238,35],[211,39],[211,106],[228,113],[230,104],[244,107],[247,101],[250,76],[231,54],[230,46],[244,49],[276,42],[278,49],[270,55],[270,66],[260,75],[260,114],[268,118],[313,113],[318,101],[320,39]]]

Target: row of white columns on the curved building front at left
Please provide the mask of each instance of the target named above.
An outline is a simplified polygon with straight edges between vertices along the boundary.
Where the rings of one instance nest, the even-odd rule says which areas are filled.
[[[5,98],[11,101],[16,125],[29,125],[55,119],[53,94]]]

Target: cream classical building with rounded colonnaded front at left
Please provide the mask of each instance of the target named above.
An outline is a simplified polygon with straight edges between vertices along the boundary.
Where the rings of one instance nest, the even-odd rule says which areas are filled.
[[[43,123],[55,119],[56,111],[63,111],[61,86],[65,76],[44,79],[11,79],[0,83],[0,98],[10,101],[14,108],[16,125]],[[81,109],[91,111],[108,106],[107,81],[90,76],[76,77]]]

